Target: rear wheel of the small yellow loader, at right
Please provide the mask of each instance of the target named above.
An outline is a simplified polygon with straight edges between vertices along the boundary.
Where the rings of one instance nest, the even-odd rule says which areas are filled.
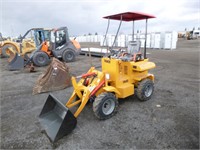
[[[150,88],[150,89],[147,89],[147,88]],[[149,91],[147,91],[147,90],[149,90]],[[138,99],[140,101],[147,101],[147,100],[151,99],[151,96],[153,94],[154,83],[150,79],[144,79],[139,83],[139,85],[135,89],[135,91],[136,91],[136,96],[138,97]]]

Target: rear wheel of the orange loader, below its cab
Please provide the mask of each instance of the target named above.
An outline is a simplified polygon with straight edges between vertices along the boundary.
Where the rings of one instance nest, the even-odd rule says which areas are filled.
[[[76,59],[75,52],[72,49],[66,49],[63,52],[62,59],[64,62],[73,62]]]

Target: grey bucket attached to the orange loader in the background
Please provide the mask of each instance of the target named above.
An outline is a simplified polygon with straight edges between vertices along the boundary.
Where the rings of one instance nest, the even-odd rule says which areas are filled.
[[[24,58],[18,53],[15,53],[15,56],[12,56],[12,60],[9,60],[8,70],[19,70],[24,68]]]

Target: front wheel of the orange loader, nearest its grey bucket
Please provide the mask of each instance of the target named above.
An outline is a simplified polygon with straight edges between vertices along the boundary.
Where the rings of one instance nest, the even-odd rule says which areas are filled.
[[[33,63],[38,66],[46,66],[50,63],[50,58],[45,52],[37,52],[33,56]]]

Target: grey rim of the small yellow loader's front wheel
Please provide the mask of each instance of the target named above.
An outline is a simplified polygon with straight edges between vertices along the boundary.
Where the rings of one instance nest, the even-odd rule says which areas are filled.
[[[115,109],[115,102],[112,99],[106,100],[102,105],[102,111],[105,115],[109,115]]]

